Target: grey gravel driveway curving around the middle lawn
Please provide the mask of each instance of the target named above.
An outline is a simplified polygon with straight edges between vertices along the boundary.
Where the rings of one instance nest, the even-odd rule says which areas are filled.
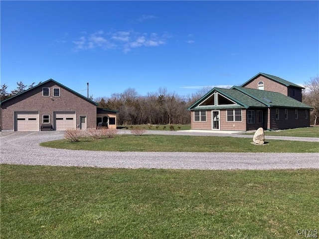
[[[1,163],[8,164],[210,170],[319,168],[319,153],[96,152],[39,146],[40,142],[63,138],[63,131],[1,132],[0,136]]]

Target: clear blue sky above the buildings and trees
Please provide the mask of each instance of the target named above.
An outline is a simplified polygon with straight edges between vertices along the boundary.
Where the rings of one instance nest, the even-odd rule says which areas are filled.
[[[319,1],[0,1],[1,85],[180,96],[319,74]]]

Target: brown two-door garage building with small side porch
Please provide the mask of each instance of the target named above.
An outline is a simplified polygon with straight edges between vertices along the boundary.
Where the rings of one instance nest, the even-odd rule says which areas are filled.
[[[0,128],[9,131],[116,128],[116,111],[49,79],[1,102]]]

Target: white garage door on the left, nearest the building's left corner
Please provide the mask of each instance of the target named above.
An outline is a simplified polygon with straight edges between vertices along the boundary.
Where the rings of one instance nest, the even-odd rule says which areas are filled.
[[[15,112],[14,121],[15,131],[39,131],[38,112]]]

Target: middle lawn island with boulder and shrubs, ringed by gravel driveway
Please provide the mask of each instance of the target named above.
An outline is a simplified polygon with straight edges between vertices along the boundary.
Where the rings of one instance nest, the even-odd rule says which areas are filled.
[[[66,139],[40,143],[41,146],[94,151],[150,152],[319,152],[318,142],[267,140],[265,145],[251,144],[252,138],[179,135],[117,135],[114,138],[79,142]]]

